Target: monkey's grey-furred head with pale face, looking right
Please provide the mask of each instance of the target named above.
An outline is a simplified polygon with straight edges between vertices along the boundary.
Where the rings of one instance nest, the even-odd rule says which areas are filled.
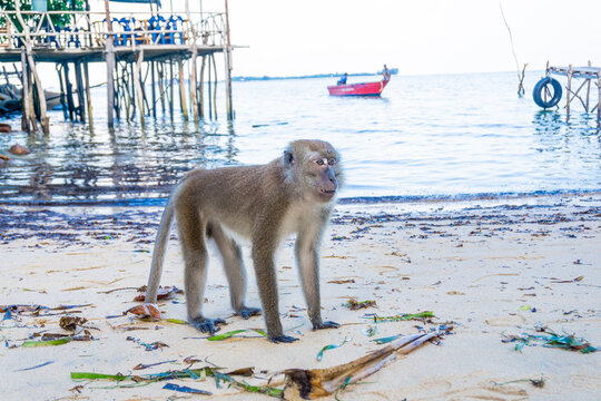
[[[295,140],[284,150],[284,167],[304,198],[331,202],[343,184],[339,155],[324,140]]]

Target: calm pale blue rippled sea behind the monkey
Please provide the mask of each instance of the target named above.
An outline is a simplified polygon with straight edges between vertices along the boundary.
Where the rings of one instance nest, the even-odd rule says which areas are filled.
[[[225,119],[219,85],[216,120],[197,126],[159,107],[144,127],[119,123],[114,131],[106,128],[105,91],[98,88],[93,131],[53,111],[48,137],[0,134],[0,153],[16,143],[32,150],[0,168],[0,202],[154,204],[196,166],[265,163],[298,138],[326,139],[339,149],[348,183],[342,197],[600,190],[597,115],[575,104],[570,119],[563,108],[541,110],[531,96],[540,77],[526,74],[523,98],[509,72],[393,76],[381,98],[331,97],[326,86],[334,78],[237,81],[233,124]],[[18,119],[9,123],[19,126]]]

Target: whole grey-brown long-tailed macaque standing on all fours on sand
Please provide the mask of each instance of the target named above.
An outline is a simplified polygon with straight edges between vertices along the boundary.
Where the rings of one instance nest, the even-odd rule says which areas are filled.
[[[185,290],[190,324],[215,333],[223,319],[203,315],[207,248],[215,241],[229,282],[231,306],[248,319],[260,310],[245,304],[246,274],[242,251],[231,234],[249,238],[257,285],[270,341],[293,342],[279,321],[274,254],[296,234],[295,256],[313,329],[337,327],[323,322],[319,300],[319,243],[334,208],[343,173],[338,153],[323,140],[295,140],[269,164],[190,172],[171,194],[162,213],[147,302],[157,301],[165,246],[174,215],[185,260]]]

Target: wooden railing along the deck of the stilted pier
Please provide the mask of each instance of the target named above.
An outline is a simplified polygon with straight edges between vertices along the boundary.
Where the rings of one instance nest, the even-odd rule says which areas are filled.
[[[33,49],[102,49],[112,37],[119,47],[197,46],[224,47],[224,14],[218,12],[111,12],[110,29],[104,12],[0,11],[0,52],[21,48],[29,36]],[[58,18],[60,17],[60,18]],[[53,22],[59,20],[60,23]]]

